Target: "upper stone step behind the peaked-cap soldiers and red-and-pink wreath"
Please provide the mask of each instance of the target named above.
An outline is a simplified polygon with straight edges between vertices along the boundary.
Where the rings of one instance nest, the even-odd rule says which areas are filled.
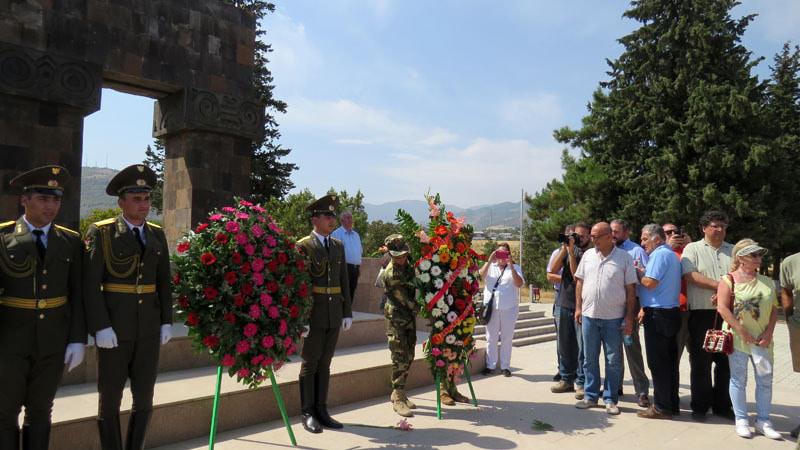
[[[199,367],[212,367],[214,361],[206,353],[196,351],[188,337],[188,329],[182,322],[172,326],[173,338],[167,345],[161,347],[158,358],[159,373],[180,370],[196,369]],[[87,348],[86,359],[83,364],[72,372],[64,372],[62,386],[91,383],[97,381],[97,358],[93,348],[93,340],[89,338],[90,348]],[[368,344],[381,344],[386,342],[386,324],[382,315],[363,312],[353,312],[353,326],[347,333],[339,333],[337,349],[344,349]],[[302,350],[302,343],[298,354]]]

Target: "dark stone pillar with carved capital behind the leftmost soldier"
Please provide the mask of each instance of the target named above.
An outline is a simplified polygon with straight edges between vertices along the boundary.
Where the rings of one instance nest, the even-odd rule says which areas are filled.
[[[0,42],[0,219],[18,216],[18,193],[9,181],[45,164],[67,168],[58,223],[80,222],[83,118],[100,107],[96,65]]]

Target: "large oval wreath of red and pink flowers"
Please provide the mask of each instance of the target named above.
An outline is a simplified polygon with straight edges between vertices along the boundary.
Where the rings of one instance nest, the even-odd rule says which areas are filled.
[[[264,208],[213,211],[177,243],[177,314],[195,347],[258,386],[297,351],[311,309],[304,257]]]

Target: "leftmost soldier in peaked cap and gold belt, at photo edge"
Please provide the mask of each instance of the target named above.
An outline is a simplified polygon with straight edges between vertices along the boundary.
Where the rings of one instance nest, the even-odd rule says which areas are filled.
[[[11,180],[25,214],[0,224],[0,449],[47,450],[50,412],[64,373],[86,345],[83,244],[53,223],[69,172],[45,166]]]

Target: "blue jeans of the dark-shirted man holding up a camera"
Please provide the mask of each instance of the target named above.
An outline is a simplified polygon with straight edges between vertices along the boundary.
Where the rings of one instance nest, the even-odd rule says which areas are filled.
[[[556,326],[556,347],[558,348],[558,373],[565,383],[583,386],[583,333],[575,323],[575,309],[553,308]]]

